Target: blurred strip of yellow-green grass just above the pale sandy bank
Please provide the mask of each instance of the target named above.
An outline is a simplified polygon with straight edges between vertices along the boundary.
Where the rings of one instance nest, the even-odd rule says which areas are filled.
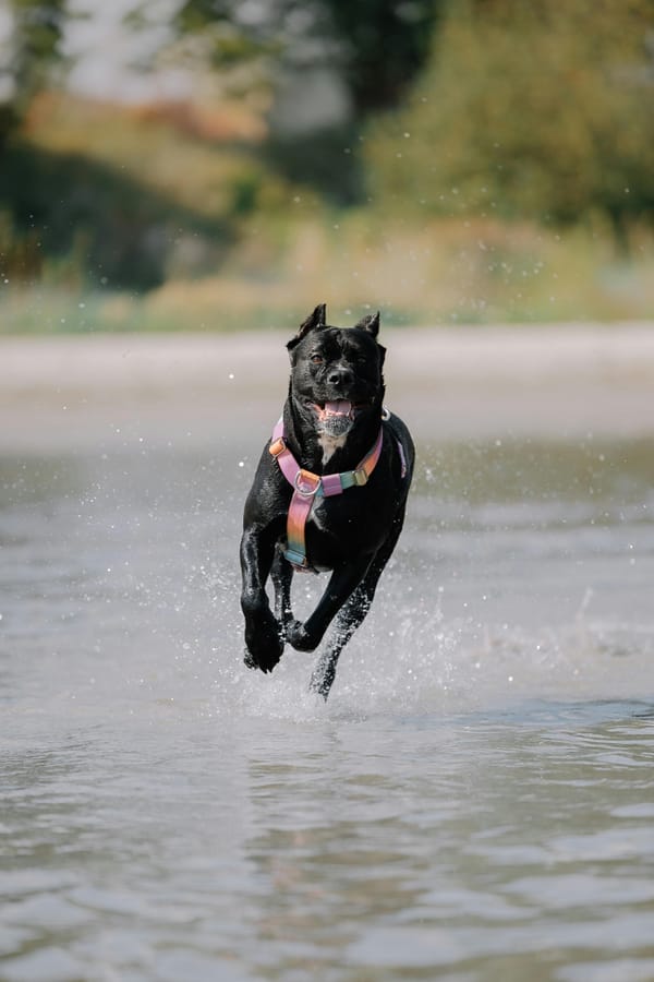
[[[253,230],[218,275],[169,279],[142,296],[3,285],[1,330],[282,327],[323,300],[344,323],[371,308],[396,325],[654,319],[654,248],[644,233],[627,262],[609,240],[581,229],[562,236],[529,226],[375,225],[366,213],[330,225],[299,219],[281,246]]]

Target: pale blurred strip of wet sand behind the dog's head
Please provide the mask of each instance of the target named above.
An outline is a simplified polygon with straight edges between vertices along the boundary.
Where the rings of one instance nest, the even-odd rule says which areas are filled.
[[[206,446],[283,402],[286,334],[0,338],[0,452]],[[383,332],[388,405],[421,439],[654,431],[654,323]]]

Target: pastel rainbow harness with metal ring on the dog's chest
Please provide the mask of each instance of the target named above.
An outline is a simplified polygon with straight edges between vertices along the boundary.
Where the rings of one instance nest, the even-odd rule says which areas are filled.
[[[311,470],[300,467],[293,457],[286,444],[283,420],[278,421],[272,431],[272,441],[268,450],[293,489],[287,519],[287,548],[283,553],[293,566],[299,570],[311,570],[306,559],[304,527],[315,499],[331,498],[334,494],[342,494],[348,488],[362,488],[366,484],[379,459],[383,441],[384,430],[379,427],[375,445],[355,470],[343,470],[341,474],[312,474]],[[404,474],[405,465],[401,447],[400,454],[402,474]]]

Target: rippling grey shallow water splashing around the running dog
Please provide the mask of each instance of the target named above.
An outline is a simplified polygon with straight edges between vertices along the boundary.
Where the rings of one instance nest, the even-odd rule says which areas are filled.
[[[422,419],[322,705],[241,663],[261,427],[141,421],[0,456],[0,979],[654,979],[651,441]]]

